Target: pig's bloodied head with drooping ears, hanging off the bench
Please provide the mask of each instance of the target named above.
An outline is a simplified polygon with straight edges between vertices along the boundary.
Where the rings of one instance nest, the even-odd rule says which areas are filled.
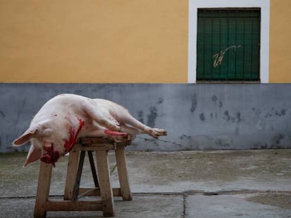
[[[79,130],[84,122],[79,121],[79,128],[72,125],[58,126],[56,123],[44,122],[31,125],[18,139],[14,146],[30,144],[30,151],[24,165],[40,159],[42,162],[55,166],[58,158],[67,154],[75,144]]]

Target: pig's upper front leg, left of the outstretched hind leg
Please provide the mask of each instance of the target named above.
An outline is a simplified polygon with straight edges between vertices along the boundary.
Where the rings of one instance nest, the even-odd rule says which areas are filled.
[[[96,121],[100,125],[103,125],[105,128],[113,131],[121,131],[120,124],[109,116],[105,116],[101,109],[98,109],[98,105],[96,102],[90,101],[84,104],[84,109],[86,114],[88,114],[89,118],[93,121]],[[110,119],[111,118],[111,119]]]

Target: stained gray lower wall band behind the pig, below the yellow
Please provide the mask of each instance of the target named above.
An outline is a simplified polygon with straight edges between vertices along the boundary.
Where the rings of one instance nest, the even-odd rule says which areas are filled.
[[[129,149],[291,148],[290,84],[1,83],[0,152],[14,151],[13,139],[59,93],[112,100],[139,121],[169,132],[157,140],[140,135]]]

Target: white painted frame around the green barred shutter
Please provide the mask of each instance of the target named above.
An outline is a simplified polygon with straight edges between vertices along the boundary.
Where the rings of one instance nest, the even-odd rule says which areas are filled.
[[[269,83],[270,0],[189,0],[188,83],[196,83],[198,8],[261,8],[260,80]]]

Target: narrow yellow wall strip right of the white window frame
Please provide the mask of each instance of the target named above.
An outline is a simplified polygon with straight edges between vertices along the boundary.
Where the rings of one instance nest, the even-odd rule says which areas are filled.
[[[270,3],[270,83],[291,83],[291,1]]]

